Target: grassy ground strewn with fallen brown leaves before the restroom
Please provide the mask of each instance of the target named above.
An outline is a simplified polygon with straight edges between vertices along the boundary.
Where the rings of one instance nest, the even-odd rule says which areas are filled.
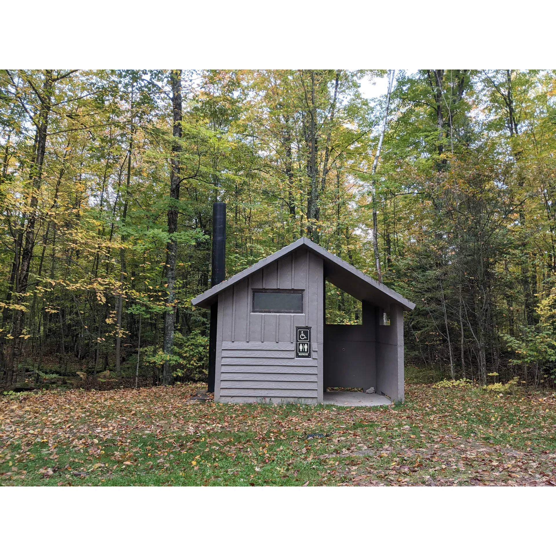
[[[199,386],[3,396],[0,484],[556,485],[552,393],[407,385],[389,408],[188,404]]]

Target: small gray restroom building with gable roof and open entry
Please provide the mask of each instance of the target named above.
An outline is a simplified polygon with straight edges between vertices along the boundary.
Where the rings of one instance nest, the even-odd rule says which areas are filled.
[[[325,324],[325,281],[361,301],[361,325]],[[215,401],[315,404],[331,386],[404,400],[415,305],[305,237],[192,300],[215,303]]]

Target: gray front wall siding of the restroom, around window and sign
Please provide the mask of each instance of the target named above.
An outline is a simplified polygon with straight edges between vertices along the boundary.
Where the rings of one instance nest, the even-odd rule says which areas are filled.
[[[220,293],[215,400],[321,401],[323,281],[322,259],[299,249]],[[258,288],[304,290],[304,312],[252,313]],[[295,358],[296,326],[311,326],[311,359]]]

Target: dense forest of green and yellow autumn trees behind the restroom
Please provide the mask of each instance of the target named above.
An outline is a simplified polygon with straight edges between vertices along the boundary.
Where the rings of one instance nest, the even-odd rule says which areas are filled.
[[[0,71],[2,388],[203,380],[215,201],[227,276],[307,236],[416,303],[409,363],[552,386],[555,95],[552,70]]]

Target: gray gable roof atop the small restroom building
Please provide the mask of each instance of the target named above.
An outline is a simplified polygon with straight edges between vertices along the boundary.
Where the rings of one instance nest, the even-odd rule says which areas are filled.
[[[373,280],[371,277],[356,269],[355,266],[340,259],[340,257],[332,255],[326,251],[326,249],[323,249],[320,245],[315,244],[306,237],[300,237],[299,240],[294,241],[286,247],[282,247],[282,249],[266,257],[266,259],[261,259],[248,269],[242,270],[224,282],[220,282],[220,284],[211,287],[203,294],[195,297],[191,303],[195,306],[203,307],[203,309],[209,309],[222,290],[243,280],[250,274],[262,269],[262,267],[269,265],[271,262],[280,259],[280,257],[299,249],[299,247],[306,247],[307,250],[321,257],[324,261],[326,280],[356,299],[370,301],[374,305],[379,305],[384,309],[388,309],[391,303],[401,305],[406,311],[414,309],[414,303],[405,299],[405,297],[391,290],[389,287],[386,287],[384,284]]]

